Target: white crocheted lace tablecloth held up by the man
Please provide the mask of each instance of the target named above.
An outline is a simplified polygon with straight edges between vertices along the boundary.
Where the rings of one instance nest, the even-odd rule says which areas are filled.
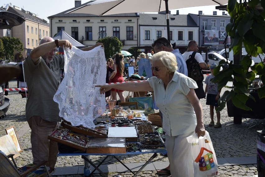
[[[59,116],[73,126],[94,128],[93,120],[105,111],[105,95],[94,85],[106,83],[104,48],[83,51],[64,48],[65,76],[53,100],[59,104]]]

